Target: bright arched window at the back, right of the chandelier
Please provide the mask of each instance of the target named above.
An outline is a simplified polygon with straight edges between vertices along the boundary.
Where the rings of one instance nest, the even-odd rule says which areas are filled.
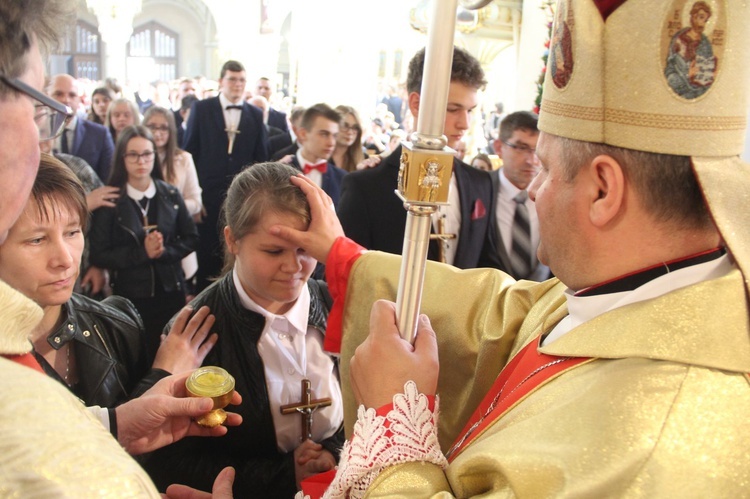
[[[142,81],[170,81],[177,78],[179,35],[157,22],[133,30],[128,43],[128,72]]]

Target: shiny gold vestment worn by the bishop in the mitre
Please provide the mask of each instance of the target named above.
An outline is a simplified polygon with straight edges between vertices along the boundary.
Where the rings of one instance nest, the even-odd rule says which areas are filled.
[[[400,259],[355,264],[342,380],[371,304],[395,298]],[[507,362],[567,314],[557,280],[428,263],[423,312],[440,348],[445,451]],[[367,286],[358,286],[358,282]],[[750,328],[738,270],[605,313],[543,347],[594,357],[521,399],[443,472],[386,469],[369,497],[742,497],[750,492]],[[346,424],[356,418],[345,383]]]

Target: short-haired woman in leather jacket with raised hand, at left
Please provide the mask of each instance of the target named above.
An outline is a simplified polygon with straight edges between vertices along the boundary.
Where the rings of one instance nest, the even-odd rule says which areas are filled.
[[[39,305],[44,315],[30,335],[45,373],[86,405],[115,407],[169,373],[199,366],[216,342],[208,309],[182,319],[151,364],[141,318],[121,296],[95,301],[73,292],[83,252],[88,207],[75,174],[42,154],[23,214],[0,246],[0,279]],[[205,320],[205,322],[204,322]]]

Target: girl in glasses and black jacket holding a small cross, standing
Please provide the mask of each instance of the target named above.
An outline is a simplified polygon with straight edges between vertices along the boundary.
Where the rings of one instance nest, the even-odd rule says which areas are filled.
[[[198,231],[176,187],[162,180],[157,147],[143,126],[125,128],[115,146],[109,185],[122,195],[94,212],[91,263],[110,271],[112,291],[143,317],[148,352],[167,321],[185,305],[180,262],[198,246]]]

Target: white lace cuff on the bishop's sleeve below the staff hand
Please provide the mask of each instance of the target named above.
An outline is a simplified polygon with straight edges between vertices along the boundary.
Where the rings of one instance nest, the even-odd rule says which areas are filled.
[[[363,497],[380,472],[394,464],[422,461],[444,469],[448,461],[437,439],[438,413],[438,398],[431,412],[427,396],[413,381],[404,385],[404,394],[393,396],[393,409],[385,416],[360,405],[354,434],[344,444],[336,477],[323,497]]]

